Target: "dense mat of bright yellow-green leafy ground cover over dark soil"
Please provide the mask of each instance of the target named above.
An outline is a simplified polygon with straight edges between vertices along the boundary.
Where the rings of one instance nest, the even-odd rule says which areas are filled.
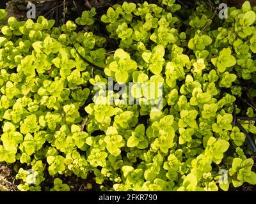
[[[255,190],[256,7],[106,2],[0,10],[1,190]]]

